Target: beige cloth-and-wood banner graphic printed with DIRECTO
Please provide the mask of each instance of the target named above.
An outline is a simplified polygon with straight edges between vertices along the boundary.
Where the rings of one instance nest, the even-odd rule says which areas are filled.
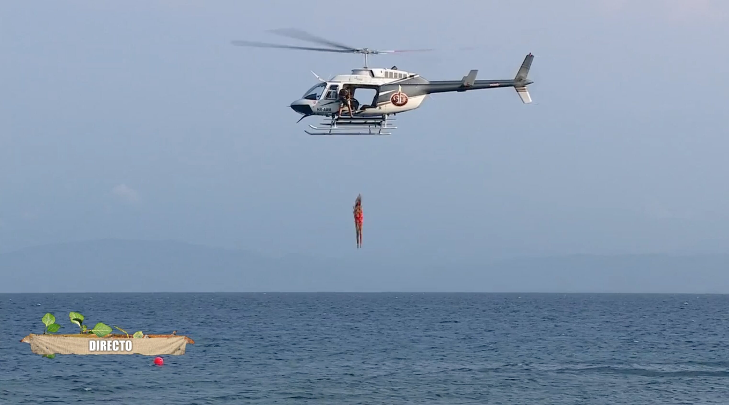
[[[188,343],[195,341],[175,334],[148,334],[131,337],[125,334],[29,334],[20,342],[30,343],[33,353],[39,355],[184,355]]]

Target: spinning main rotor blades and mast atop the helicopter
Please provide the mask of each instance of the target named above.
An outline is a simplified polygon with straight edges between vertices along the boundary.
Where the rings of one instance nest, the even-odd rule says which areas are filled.
[[[241,47],[258,47],[258,48],[278,48],[278,49],[289,49],[289,50],[310,50],[316,52],[336,52],[336,53],[361,53],[364,55],[364,68],[368,67],[369,60],[368,55],[380,55],[382,53],[402,53],[402,52],[426,52],[432,51],[432,49],[424,50],[370,50],[369,48],[356,48],[350,47],[339,42],[330,41],[329,39],[321,38],[313,34],[309,34],[306,31],[302,31],[296,28],[281,28],[276,30],[270,30],[273,34],[282,36],[288,36],[293,39],[300,39],[306,42],[313,42],[315,44],[327,45],[327,47],[297,47],[294,45],[281,45],[281,44],[270,44],[268,42],[253,42],[253,41],[233,41],[233,45]],[[312,72],[313,73],[313,72]],[[316,74],[314,74],[316,76]],[[319,77],[319,76],[317,76]]]

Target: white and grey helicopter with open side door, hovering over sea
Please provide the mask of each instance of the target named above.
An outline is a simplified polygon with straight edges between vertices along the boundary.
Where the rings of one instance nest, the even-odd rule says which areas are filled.
[[[292,45],[271,44],[267,42],[233,41],[237,46],[279,48],[292,50],[309,50],[316,52],[355,53],[364,55],[364,67],[352,69],[350,74],[338,74],[331,79],[321,79],[311,72],[319,83],[313,85],[293,101],[290,108],[301,114],[297,121],[306,117],[329,117],[321,126],[309,125],[305,130],[308,135],[391,135],[394,118],[389,116],[406,111],[413,111],[421,106],[426,96],[432,93],[464,92],[469,90],[513,87],[523,103],[531,103],[531,95],[527,86],[532,84],[527,79],[534,55],[526,55],[521,67],[513,79],[476,80],[477,69],[472,69],[460,80],[428,80],[419,74],[404,71],[397,66],[391,68],[372,68],[368,66],[368,55],[385,53],[421,52],[424,50],[371,50],[369,48],[350,47],[330,41],[306,31],[295,28],[271,30],[275,34],[302,39],[327,47],[298,47]],[[343,90],[346,92],[343,93]],[[373,98],[359,97],[354,94],[370,90]]]

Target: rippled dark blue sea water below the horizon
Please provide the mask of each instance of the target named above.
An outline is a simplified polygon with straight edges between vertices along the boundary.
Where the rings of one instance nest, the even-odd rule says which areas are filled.
[[[195,345],[20,343],[71,310]],[[729,404],[721,295],[0,294],[0,326],[1,404]]]

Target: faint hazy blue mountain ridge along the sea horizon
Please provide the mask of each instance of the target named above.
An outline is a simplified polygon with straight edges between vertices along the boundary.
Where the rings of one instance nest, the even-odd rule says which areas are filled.
[[[729,255],[572,255],[478,266],[264,256],[174,241],[92,240],[0,254],[0,293],[432,291],[729,293]]]

